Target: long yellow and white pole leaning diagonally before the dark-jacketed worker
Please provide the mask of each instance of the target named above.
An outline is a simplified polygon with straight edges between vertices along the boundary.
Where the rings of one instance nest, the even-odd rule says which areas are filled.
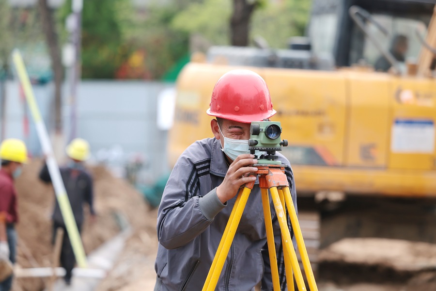
[[[68,200],[65,186],[63,185],[58,163],[54,158],[53,149],[50,144],[50,139],[48,138],[46,125],[44,124],[44,120],[41,118],[38,104],[36,104],[31,82],[29,80],[29,75],[27,74],[26,67],[24,65],[23,58],[21,57],[20,52],[15,49],[12,56],[14,59],[14,64],[18,73],[18,77],[26,95],[27,103],[31,110],[33,121],[35,122],[39,141],[41,142],[44,154],[47,156],[48,172],[50,173],[53,188],[56,193],[56,198],[58,199],[58,203],[61,208],[63,221],[65,223],[71,245],[73,246],[74,255],[76,256],[78,266],[80,268],[86,268],[85,250],[83,249],[77,224],[74,219],[73,211],[71,210],[70,201]]]

